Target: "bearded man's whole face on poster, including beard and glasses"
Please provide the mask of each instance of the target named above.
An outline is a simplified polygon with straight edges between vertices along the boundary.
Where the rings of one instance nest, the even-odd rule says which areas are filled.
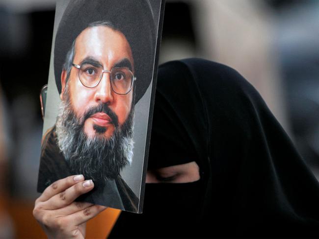
[[[74,174],[102,183],[133,158],[133,83],[122,81],[133,76],[132,50],[120,31],[98,25],[76,38],[71,60],[69,76],[61,73],[58,145]]]

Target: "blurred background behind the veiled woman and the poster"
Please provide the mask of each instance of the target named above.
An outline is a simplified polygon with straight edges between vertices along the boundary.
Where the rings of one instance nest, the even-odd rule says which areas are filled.
[[[235,68],[319,179],[319,1],[166,2],[160,63],[202,57]],[[54,9],[55,0],[0,2],[0,238],[45,237],[32,209]]]

